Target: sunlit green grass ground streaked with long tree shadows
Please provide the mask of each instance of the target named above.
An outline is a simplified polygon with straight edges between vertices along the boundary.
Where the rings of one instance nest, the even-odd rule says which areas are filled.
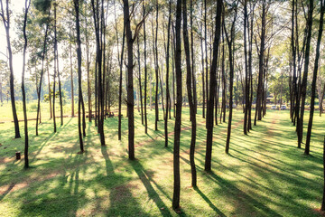
[[[136,111],[136,110],[135,110]],[[127,158],[127,118],[122,141],[117,118],[107,118],[107,146],[100,146],[94,122],[87,123],[86,152],[79,155],[78,118],[64,118],[58,133],[43,118],[40,136],[29,122],[30,165],[23,169],[23,138],[14,139],[14,124],[0,124],[0,216],[320,216],[323,190],[322,144],[325,117],[315,114],[311,156],[298,149],[288,111],[268,110],[248,136],[243,113],[234,113],[230,155],[225,154],[227,124],[214,128],[212,172],[204,172],[206,129],[198,114],[195,161],[198,188],[190,186],[189,110],[181,131],[181,212],[172,210],[174,120],[164,147],[163,120],[148,135],[135,114],[135,161]],[[254,111],[255,112],[255,111]],[[160,111],[161,118],[163,111]],[[305,130],[309,119],[305,114]],[[23,122],[20,122],[23,135]],[[305,141],[305,136],[303,137]],[[302,146],[304,147],[304,146]]]

